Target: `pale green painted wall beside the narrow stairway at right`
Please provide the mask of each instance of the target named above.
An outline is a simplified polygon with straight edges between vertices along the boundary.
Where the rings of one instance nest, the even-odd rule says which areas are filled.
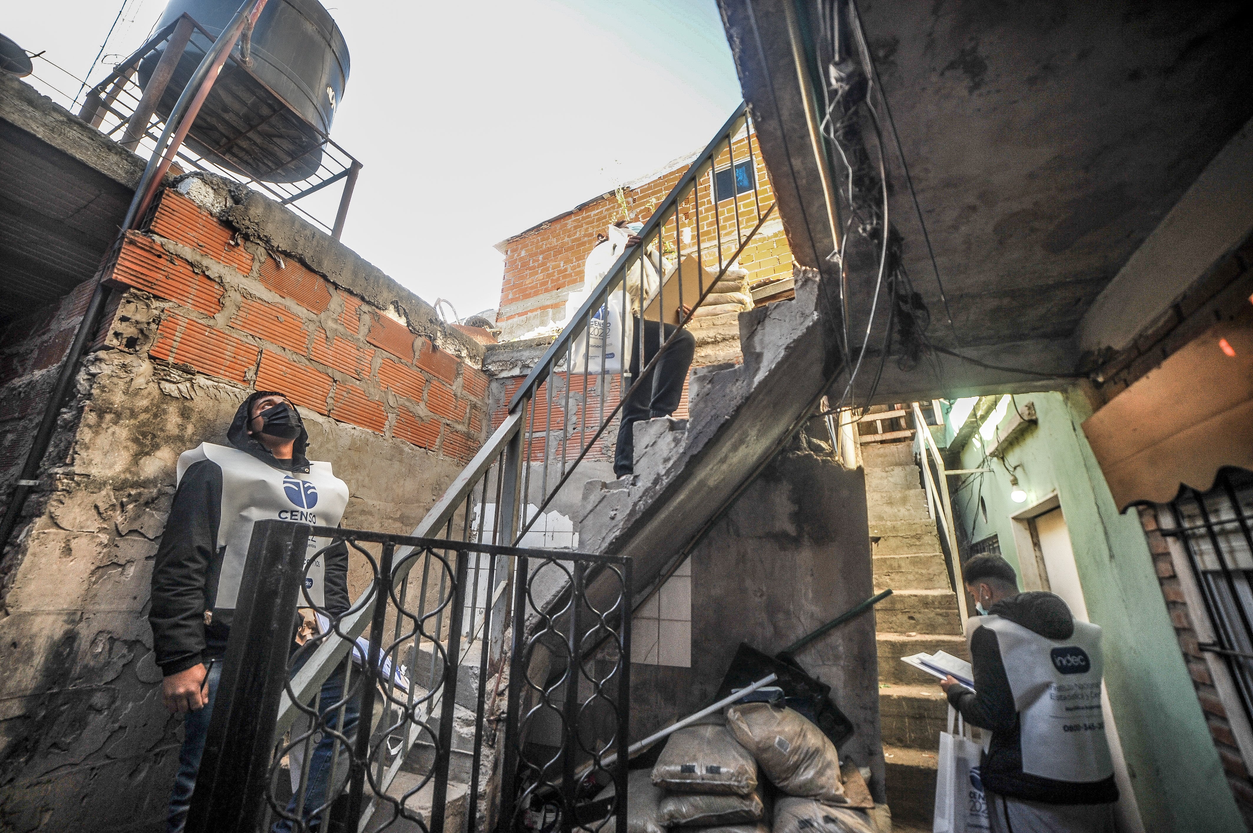
[[[985,460],[974,441],[962,468],[990,473],[951,479],[954,511],[971,541],[991,534],[1006,560],[1019,554],[1010,516],[1049,496],[1061,501],[1090,619],[1104,629],[1105,684],[1145,829],[1213,833],[1244,830],[1218,753],[1188,676],[1134,510],[1119,514],[1080,423],[1091,415],[1078,390],[1016,395],[1034,402],[1039,423],[1005,447],[1027,500],[1010,500],[1010,477],[1000,461]],[[1012,408],[1007,417],[1012,417]],[[976,435],[977,436],[977,435]],[[987,507],[987,520],[979,497]]]

